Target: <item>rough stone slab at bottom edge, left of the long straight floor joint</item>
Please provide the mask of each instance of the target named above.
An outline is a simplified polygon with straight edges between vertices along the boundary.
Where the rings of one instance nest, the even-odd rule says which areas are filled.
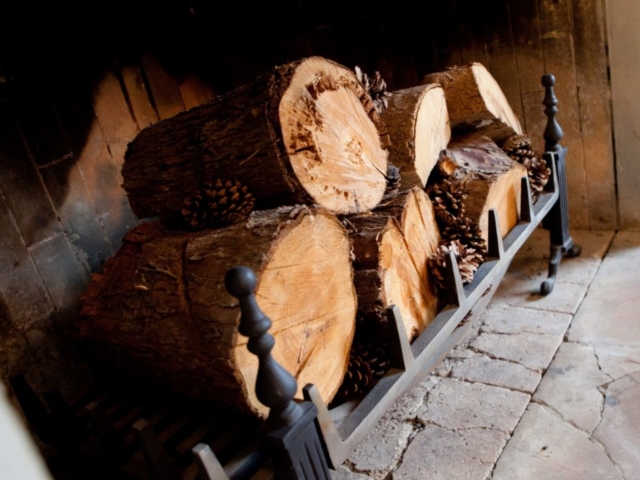
[[[393,480],[488,478],[508,438],[498,430],[452,432],[427,425],[411,441]]]

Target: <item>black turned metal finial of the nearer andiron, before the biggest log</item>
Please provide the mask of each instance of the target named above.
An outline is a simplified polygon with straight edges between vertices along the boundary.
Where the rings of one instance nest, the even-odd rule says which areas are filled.
[[[267,333],[271,320],[262,313],[254,296],[258,283],[256,275],[248,267],[235,267],[227,272],[224,283],[227,291],[240,301],[242,316],[238,330],[249,337],[247,348],[258,357],[256,396],[260,403],[270,408],[269,423],[273,426],[293,425],[304,413],[293,401],[298,385],[293,375],[271,356],[276,341]]]

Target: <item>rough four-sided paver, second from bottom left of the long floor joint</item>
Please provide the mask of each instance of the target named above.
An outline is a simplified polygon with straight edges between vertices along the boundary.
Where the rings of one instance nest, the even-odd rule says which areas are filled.
[[[511,432],[530,396],[501,387],[443,378],[429,392],[418,420],[450,430],[490,428]]]

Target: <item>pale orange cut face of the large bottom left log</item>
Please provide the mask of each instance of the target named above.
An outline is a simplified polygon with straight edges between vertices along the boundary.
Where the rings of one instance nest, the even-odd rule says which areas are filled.
[[[274,358],[302,388],[313,383],[329,403],[349,362],[355,332],[355,291],[350,244],[333,216],[308,215],[280,235],[260,273],[256,297],[271,319]],[[247,386],[255,384],[257,358],[238,337],[233,356]],[[263,411],[253,388],[249,401]]]

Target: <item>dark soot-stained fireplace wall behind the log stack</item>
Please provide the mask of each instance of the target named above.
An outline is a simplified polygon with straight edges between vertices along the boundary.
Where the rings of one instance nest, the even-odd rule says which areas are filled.
[[[392,90],[482,62],[530,132],[544,126],[540,77],[554,73],[572,226],[617,226],[600,0],[453,0],[434,2],[424,18],[409,2],[232,2],[224,13],[197,0],[0,9],[12,26],[0,47],[3,378],[28,373],[69,395],[86,379],[71,342],[80,295],[140,221],[121,188],[128,142],[309,55],[379,70]],[[46,20],[37,32],[36,17]]]

